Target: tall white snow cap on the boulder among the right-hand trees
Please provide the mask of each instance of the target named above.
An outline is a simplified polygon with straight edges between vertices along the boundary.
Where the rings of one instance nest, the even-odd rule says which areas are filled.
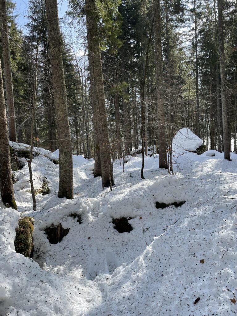
[[[203,144],[203,141],[197,137],[190,129],[182,128],[173,138],[173,150],[195,151]]]

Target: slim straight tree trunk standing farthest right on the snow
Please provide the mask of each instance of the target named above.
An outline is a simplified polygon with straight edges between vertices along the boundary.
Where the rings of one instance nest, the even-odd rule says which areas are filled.
[[[223,128],[224,157],[225,157],[225,159],[231,161],[230,148],[229,148],[229,136],[228,136],[228,119],[227,119],[227,96],[226,96],[222,0],[217,0],[217,8],[218,8],[218,26],[219,26],[219,49],[220,49],[221,94],[222,94],[222,128]]]

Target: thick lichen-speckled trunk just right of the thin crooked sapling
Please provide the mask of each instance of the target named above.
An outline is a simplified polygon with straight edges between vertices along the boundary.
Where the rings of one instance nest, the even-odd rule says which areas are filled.
[[[46,0],[50,61],[59,148],[58,197],[73,198],[73,166],[67,96],[62,58],[62,37],[58,21],[57,0]]]

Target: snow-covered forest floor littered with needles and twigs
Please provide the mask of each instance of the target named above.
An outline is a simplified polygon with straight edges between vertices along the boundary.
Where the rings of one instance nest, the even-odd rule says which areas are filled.
[[[26,165],[15,174],[18,210],[0,209],[0,315],[237,313],[237,155],[229,162],[216,151],[177,150],[174,176],[147,157],[145,180],[141,157],[130,157],[124,173],[115,162],[112,192],[93,177],[93,161],[74,157],[75,198],[66,200],[57,197],[59,167],[48,159],[54,155],[40,150],[34,185],[46,177],[50,193],[36,196],[33,212]],[[175,201],[186,203],[155,207]],[[15,252],[21,216],[35,218],[33,259]],[[112,218],[121,216],[132,218],[130,233],[114,229]],[[44,228],[59,222],[69,233],[50,244]]]

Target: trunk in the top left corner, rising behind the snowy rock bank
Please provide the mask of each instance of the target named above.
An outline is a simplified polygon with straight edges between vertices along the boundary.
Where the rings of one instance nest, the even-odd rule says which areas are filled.
[[[0,27],[2,33],[3,65],[8,108],[9,138],[11,141],[17,142],[15,125],[15,107],[11,74],[11,60],[8,40],[7,11],[5,0],[0,0]]]

